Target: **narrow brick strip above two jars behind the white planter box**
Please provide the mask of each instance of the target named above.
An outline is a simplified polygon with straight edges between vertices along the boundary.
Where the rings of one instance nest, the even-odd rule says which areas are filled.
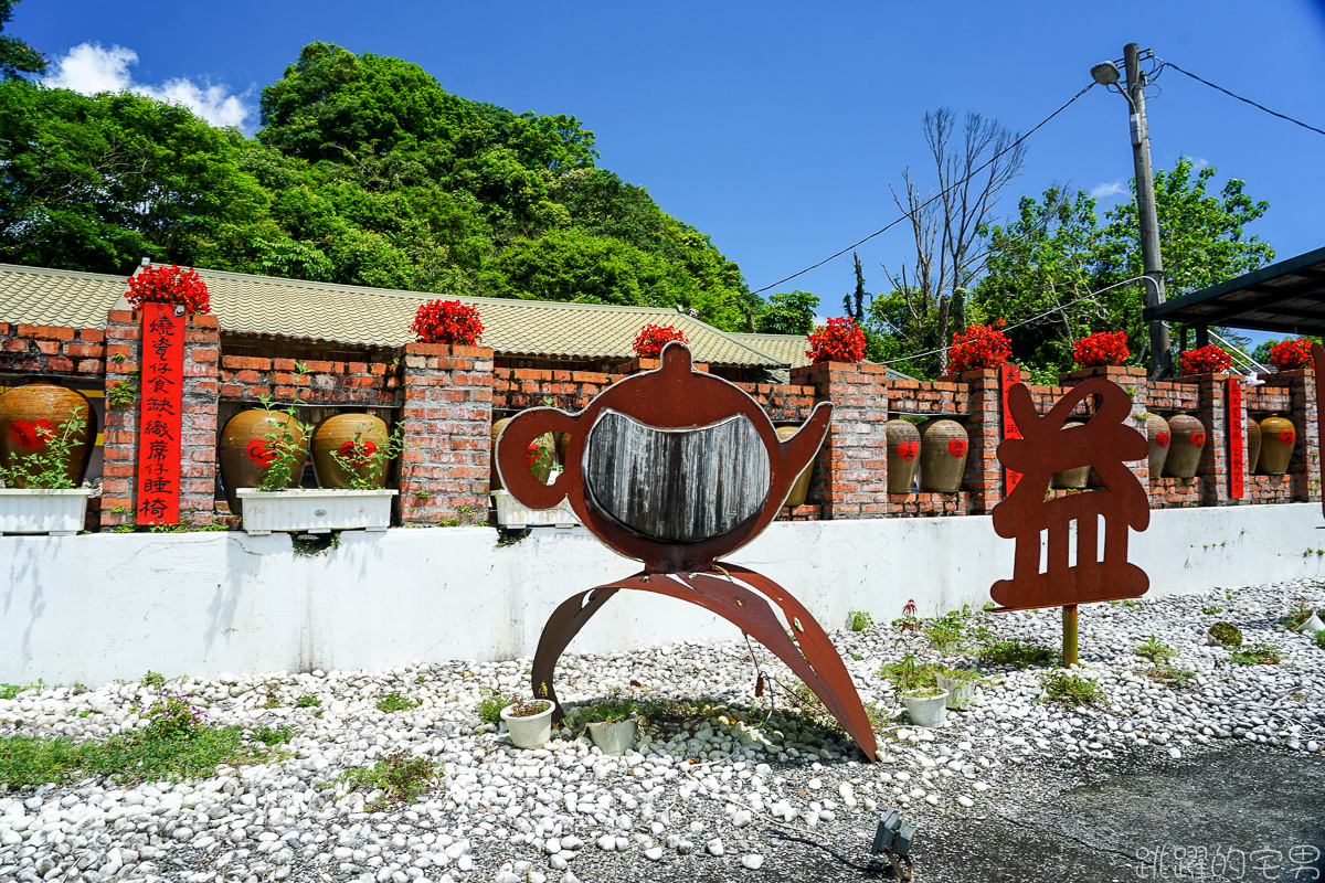
[[[221,356],[223,398],[257,401],[262,396],[290,401],[295,389],[307,405],[399,408],[400,376],[396,365],[368,361],[305,361],[307,373],[295,373],[294,359]]]

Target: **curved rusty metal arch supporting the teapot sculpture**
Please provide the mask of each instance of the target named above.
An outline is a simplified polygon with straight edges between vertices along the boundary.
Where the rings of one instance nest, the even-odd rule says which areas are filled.
[[[717,564],[713,571],[704,573],[637,573],[580,592],[558,606],[538,639],[530,678],[534,695],[545,698],[546,690],[546,698],[555,706],[553,720],[562,719],[562,706],[554,687],[556,661],[584,624],[619,589],[656,592],[698,604],[750,634],[814,690],[865,756],[874,760],[874,731],[860,703],[856,684],[823,627],[790,592],[766,576],[734,564]],[[772,612],[770,601],[782,609],[796,635],[795,641],[787,635],[786,626]]]

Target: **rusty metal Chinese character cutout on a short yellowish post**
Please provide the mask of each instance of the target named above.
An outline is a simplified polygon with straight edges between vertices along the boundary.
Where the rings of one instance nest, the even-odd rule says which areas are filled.
[[[1090,420],[1064,429],[1073,409],[1090,396],[1097,400]],[[994,601],[1016,610],[1145,594],[1150,580],[1128,561],[1128,531],[1143,531],[1150,523],[1146,491],[1128,469],[1129,462],[1147,454],[1145,436],[1125,422],[1132,396],[1104,377],[1092,377],[1043,417],[1026,384],[1012,387],[1007,402],[1022,438],[1006,438],[998,446],[998,458],[1022,478],[994,508],[994,530],[1016,540],[1012,579],[994,584]],[[1081,466],[1090,466],[1104,487],[1045,499],[1053,473]],[[1041,553],[1044,534],[1047,553]]]

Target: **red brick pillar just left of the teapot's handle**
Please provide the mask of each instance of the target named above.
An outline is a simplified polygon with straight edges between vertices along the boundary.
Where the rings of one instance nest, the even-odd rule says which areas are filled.
[[[493,351],[411,343],[404,348],[405,451],[400,466],[400,520],[478,523],[488,514],[492,465]]]

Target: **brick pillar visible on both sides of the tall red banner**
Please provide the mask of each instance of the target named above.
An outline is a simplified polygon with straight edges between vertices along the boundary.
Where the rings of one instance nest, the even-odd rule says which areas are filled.
[[[106,318],[106,426],[101,526],[131,524],[138,503],[139,347],[142,319],[127,310]],[[220,331],[216,316],[189,315],[184,324],[184,412],[180,416],[180,524],[207,527],[215,515],[216,405],[220,387]],[[111,406],[115,388],[132,398]],[[115,511],[119,510],[119,511]]]

